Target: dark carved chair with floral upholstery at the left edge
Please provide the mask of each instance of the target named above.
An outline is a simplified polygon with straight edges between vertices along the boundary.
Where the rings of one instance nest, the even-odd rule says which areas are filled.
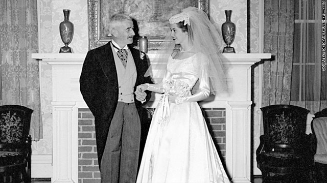
[[[32,112],[19,105],[0,106],[0,182],[31,182]]]

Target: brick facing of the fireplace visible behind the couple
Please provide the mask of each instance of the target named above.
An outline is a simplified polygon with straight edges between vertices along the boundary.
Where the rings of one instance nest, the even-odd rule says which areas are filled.
[[[153,109],[151,109],[153,110]],[[222,158],[226,153],[224,108],[202,108],[211,136]],[[94,116],[89,109],[78,110],[78,182],[100,183]],[[223,164],[224,159],[222,159]]]

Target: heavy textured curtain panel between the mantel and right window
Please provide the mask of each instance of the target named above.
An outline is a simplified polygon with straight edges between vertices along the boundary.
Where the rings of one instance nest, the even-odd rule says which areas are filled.
[[[274,59],[263,64],[262,106],[290,104],[294,0],[265,0],[264,52]]]

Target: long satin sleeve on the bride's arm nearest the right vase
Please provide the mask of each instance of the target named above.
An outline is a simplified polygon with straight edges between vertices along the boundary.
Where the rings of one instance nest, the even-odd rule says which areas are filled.
[[[194,66],[198,68],[198,88],[196,89],[196,92],[194,95],[185,97],[185,98],[179,98],[177,97],[176,103],[184,103],[184,102],[198,102],[202,101],[209,97],[210,95],[210,81],[209,76],[207,74],[207,57],[204,54],[199,54],[195,57],[194,60]]]

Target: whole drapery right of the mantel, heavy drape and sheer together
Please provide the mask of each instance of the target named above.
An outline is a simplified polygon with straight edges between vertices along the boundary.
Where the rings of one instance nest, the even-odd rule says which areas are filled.
[[[265,0],[264,5],[264,52],[275,59],[264,63],[262,106],[292,104],[311,113],[326,108],[321,1]]]

